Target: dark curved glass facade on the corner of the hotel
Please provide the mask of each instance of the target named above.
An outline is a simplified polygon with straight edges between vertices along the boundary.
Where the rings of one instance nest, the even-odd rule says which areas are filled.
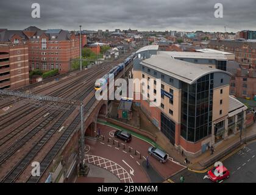
[[[212,133],[213,73],[193,85],[182,82],[182,122],[180,135],[196,142]]]

